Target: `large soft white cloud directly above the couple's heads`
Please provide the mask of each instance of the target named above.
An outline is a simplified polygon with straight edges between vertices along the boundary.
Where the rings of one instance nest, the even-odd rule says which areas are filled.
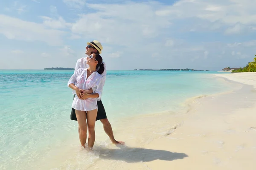
[[[131,2],[124,5],[87,4],[94,13],[81,15],[72,26],[72,32],[112,45],[143,44],[145,38],[158,36],[162,28],[170,25],[168,20],[155,15],[153,5]]]

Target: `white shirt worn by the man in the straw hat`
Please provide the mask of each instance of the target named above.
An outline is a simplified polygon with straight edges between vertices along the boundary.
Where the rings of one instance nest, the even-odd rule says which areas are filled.
[[[83,58],[78,59],[77,62],[76,62],[76,67],[75,67],[74,72],[76,72],[79,68],[88,68],[89,65],[86,64],[86,61],[87,61],[87,57],[83,57]],[[105,62],[102,62],[102,63],[104,64],[104,71],[101,75],[102,75],[102,84],[104,86],[105,81],[106,81],[107,69],[106,69]],[[76,82],[74,84],[76,85]],[[93,89],[93,93],[95,93],[96,89],[95,88],[92,88],[92,89]],[[73,90],[72,94],[76,94],[76,91]],[[96,99],[101,100],[101,97],[98,97]]]

